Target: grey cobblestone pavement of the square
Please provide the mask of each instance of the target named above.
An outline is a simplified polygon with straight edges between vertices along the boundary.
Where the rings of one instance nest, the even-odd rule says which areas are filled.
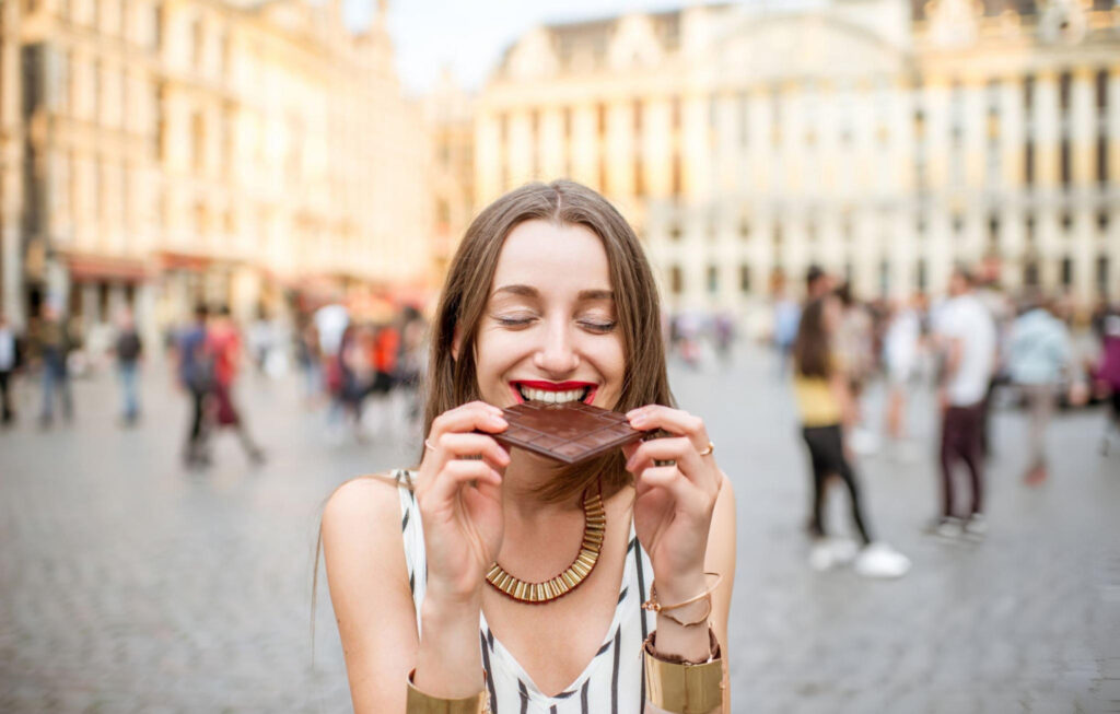
[[[249,375],[268,462],[223,436],[215,466],[190,472],[185,400],[148,372],[136,430],[116,425],[103,376],[76,384],[75,424],[47,432],[24,385],[22,421],[0,433],[0,712],[348,711],[321,583],[312,664],[318,515],[348,477],[409,463],[414,436],[383,420],[365,444],[330,443],[293,379]],[[1036,489],[1019,481],[1024,420],[998,413],[991,533],[945,544],[921,534],[936,481],[920,394],[908,450],[859,463],[875,529],[914,570],[868,582],[808,567],[805,457],[772,372],[752,353],[673,379],[738,497],[735,712],[1120,711],[1120,448],[1099,455],[1101,411],[1057,420]]]

